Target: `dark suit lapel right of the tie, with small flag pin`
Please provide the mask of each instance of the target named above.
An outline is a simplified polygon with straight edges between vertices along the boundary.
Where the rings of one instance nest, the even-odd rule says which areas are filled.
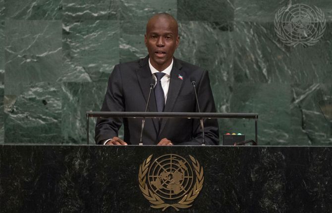
[[[167,100],[164,112],[172,112],[176,98],[181,90],[182,81],[183,81],[182,79],[179,78],[180,76],[183,78],[183,75],[180,72],[182,66],[175,58],[173,60],[174,60],[173,67],[170,72],[168,94],[167,94]],[[167,118],[162,119],[159,133],[163,131],[167,121],[168,121]]]

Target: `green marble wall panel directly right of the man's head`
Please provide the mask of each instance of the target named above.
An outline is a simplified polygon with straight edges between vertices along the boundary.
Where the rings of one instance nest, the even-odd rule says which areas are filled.
[[[179,22],[180,43],[175,57],[209,71],[212,85],[232,81],[231,32],[221,22]]]

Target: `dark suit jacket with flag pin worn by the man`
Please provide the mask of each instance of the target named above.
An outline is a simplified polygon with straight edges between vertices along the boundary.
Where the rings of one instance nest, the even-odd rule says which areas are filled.
[[[109,78],[101,111],[144,112],[152,79],[149,57],[134,62],[116,65]],[[179,78],[182,76],[182,80]],[[164,112],[198,112],[195,92],[191,80],[196,81],[196,89],[201,112],[215,112],[208,72],[192,64],[174,58]],[[148,112],[157,112],[154,92],[151,93]],[[124,138],[128,144],[138,144],[142,118],[98,119],[95,140],[117,136],[123,122]],[[216,119],[205,119],[205,141],[207,145],[218,145],[219,131]],[[199,119],[149,119],[145,121],[143,144],[157,144],[166,137],[174,145],[200,145],[202,130]]]

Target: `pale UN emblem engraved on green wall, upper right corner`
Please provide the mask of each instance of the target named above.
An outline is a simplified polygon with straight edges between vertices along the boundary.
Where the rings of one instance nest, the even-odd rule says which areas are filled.
[[[312,46],[323,37],[326,29],[323,11],[301,3],[281,7],[274,24],[277,37],[288,46],[299,43]]]

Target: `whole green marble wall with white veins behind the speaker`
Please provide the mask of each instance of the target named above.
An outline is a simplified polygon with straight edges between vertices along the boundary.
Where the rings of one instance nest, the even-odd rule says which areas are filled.
[[[0,0],[0,143],[84,144],[114,65],[144,57],[148,17],[168,12],[175,56],[209,70],[219,112],[258,113],[261,145],[330,145],[318,101],[332,98],[332,1],[291,2],[324,11],[316,45],[278,40],[287,0]],[[220,131],[254,138],[254,121],[220,120]]]

